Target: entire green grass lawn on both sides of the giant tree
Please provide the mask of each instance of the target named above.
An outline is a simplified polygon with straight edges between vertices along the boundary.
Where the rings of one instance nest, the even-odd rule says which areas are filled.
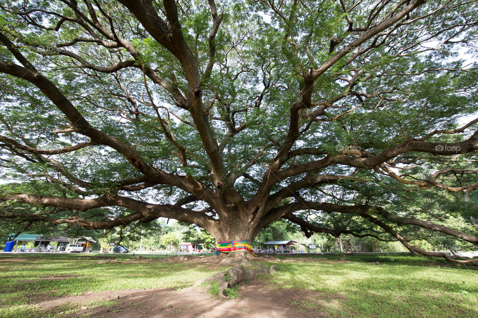
[[[227,269],[195,262],[126,261],[131,258],[122,255],[121,263],[98,263],[91,255],[15,255],[14,259],[0,255],[0,317],[61,317],[42,313],[33,304],[46,297],[107,290],[179,289]],[[300,258],[262,262],[278,267],[276,274],[262,279],[271,289],[313,291],[291,303],[299,313],[317,309],[334,318],[478,317],[477,270],[438,267],[441,260],[414,256],[348,256],[347,260],[352,262]],[[61,310],[74,312],[75,307],[65,305]]]

